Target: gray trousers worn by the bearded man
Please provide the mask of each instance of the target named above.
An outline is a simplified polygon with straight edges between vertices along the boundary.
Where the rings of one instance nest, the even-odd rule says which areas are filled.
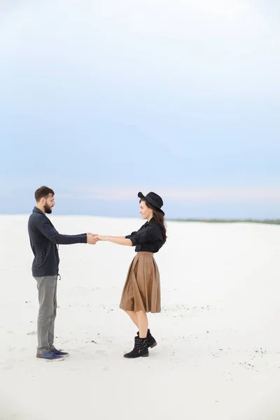
[[[37,354],[43,354],[54,348],[57,276],[34,277],[34,279],[37,281],[39,299]]]

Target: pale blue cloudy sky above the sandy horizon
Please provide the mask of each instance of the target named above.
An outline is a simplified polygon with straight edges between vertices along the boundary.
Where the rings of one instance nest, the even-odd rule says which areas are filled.
[[[0,214],[279,218],[276,0],[3,0]]]

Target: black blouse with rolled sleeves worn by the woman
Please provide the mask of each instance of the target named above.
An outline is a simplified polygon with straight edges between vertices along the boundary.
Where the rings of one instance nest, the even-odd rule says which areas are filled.
[[[135,251],[158,252],[163,245],[162,228],[154,219],[146,222],[137,232],[126,236],[135,246]]]

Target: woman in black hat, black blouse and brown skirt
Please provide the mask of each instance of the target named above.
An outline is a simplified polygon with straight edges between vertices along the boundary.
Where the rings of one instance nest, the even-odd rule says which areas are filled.
[[[134,338],[134,349],[126,353],[126,358],[148,356],[148,347],[157,345],[148,329],[147,312],[160,312],[160,273],[153,254],[158,252],[167,239],[165,213],[161,207],[162,198],[155,193],[146,196],[138,193],[142,218],[147,222],[137,232],[126,237],[100,236],[100,241],[135,246],[137,255],[132,260],[123,288],[120,308],[123,309],[139,328]]]

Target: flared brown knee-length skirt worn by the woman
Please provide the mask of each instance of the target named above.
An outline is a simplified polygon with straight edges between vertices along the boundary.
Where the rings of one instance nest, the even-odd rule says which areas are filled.
[[[120,308],[125,311],[160,312],[160,273],[152,252],[137,252],[132,260]]]

